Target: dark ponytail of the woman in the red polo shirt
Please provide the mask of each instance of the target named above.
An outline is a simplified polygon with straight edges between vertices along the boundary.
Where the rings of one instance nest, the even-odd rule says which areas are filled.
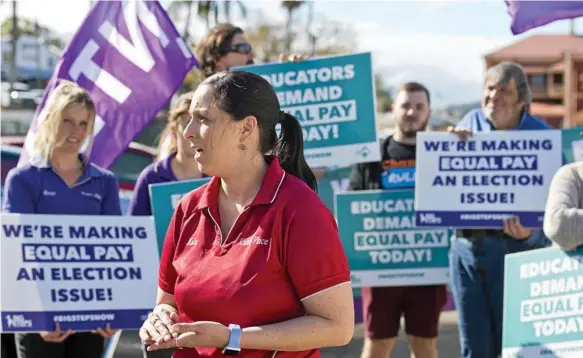
[[[300,178],[317,192],[316,177],[304,158],[304,136],[300,122],[291,114],[280,111],[279,123],[281,132],[274,148],[279,164],[283,170]]]

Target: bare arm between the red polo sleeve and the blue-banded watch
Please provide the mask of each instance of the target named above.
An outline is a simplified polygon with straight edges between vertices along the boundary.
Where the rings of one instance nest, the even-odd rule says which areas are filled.
[[[241,348],[302,351],[342,346],[354,334],[352,286],[347,282],[302,301],[303,317],[260,327],[244,328]]]

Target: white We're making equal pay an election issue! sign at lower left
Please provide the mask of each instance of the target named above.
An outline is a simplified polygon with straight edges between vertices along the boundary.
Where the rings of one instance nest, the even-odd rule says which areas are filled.
[[[1,226],[3,332],[137,329],[154,306],[151,217],[2,214]]]

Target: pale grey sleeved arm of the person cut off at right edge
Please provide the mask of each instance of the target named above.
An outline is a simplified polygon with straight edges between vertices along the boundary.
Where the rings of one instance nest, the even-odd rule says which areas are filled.
[[[544,233],[561,248],[583,245],[583,163],[560,168],[549,188]]]

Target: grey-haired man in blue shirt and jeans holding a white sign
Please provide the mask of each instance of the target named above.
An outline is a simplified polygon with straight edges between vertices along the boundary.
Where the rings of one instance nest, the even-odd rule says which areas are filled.
[[[522,67],[502,62],[486,73],[482,108],[469,112],[449,132],[466,140],[478,132],[552,129],[528,113],[530,102]],[[456,231],[450,275],[463,358],[496,358],[501,353],[504,256],[550,245],[542,230],[527,229],[516,217],[504,220],[503,230]]]

